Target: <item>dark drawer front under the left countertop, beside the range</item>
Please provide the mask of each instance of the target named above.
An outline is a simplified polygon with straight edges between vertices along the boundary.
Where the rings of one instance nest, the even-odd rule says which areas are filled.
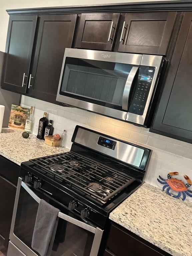
[[[20,166],[0,156],[0,176],[17,186]]]

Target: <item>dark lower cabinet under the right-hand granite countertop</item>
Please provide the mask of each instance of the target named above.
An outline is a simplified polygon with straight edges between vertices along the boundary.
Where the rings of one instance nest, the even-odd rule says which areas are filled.
[[[110,225],[103,256],[171,256],[119,225]]]

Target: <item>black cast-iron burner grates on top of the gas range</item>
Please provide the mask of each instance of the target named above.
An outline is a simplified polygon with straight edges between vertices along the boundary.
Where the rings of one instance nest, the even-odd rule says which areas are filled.
[[[30,160],[35,166],[105,203],[135,181],[129,175],[72,151]]]

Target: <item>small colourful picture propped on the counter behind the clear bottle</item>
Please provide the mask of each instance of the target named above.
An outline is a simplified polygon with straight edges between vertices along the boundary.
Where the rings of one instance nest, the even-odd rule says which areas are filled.
[[[23,108],[21,106],[12,105],[8,127],[24,130],[25,122],[29,115],[30,108]]]

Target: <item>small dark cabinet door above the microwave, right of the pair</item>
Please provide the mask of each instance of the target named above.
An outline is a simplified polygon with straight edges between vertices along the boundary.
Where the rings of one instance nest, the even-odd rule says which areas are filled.
[[[119,51],[166,55],[176,12],[127,13]]]

